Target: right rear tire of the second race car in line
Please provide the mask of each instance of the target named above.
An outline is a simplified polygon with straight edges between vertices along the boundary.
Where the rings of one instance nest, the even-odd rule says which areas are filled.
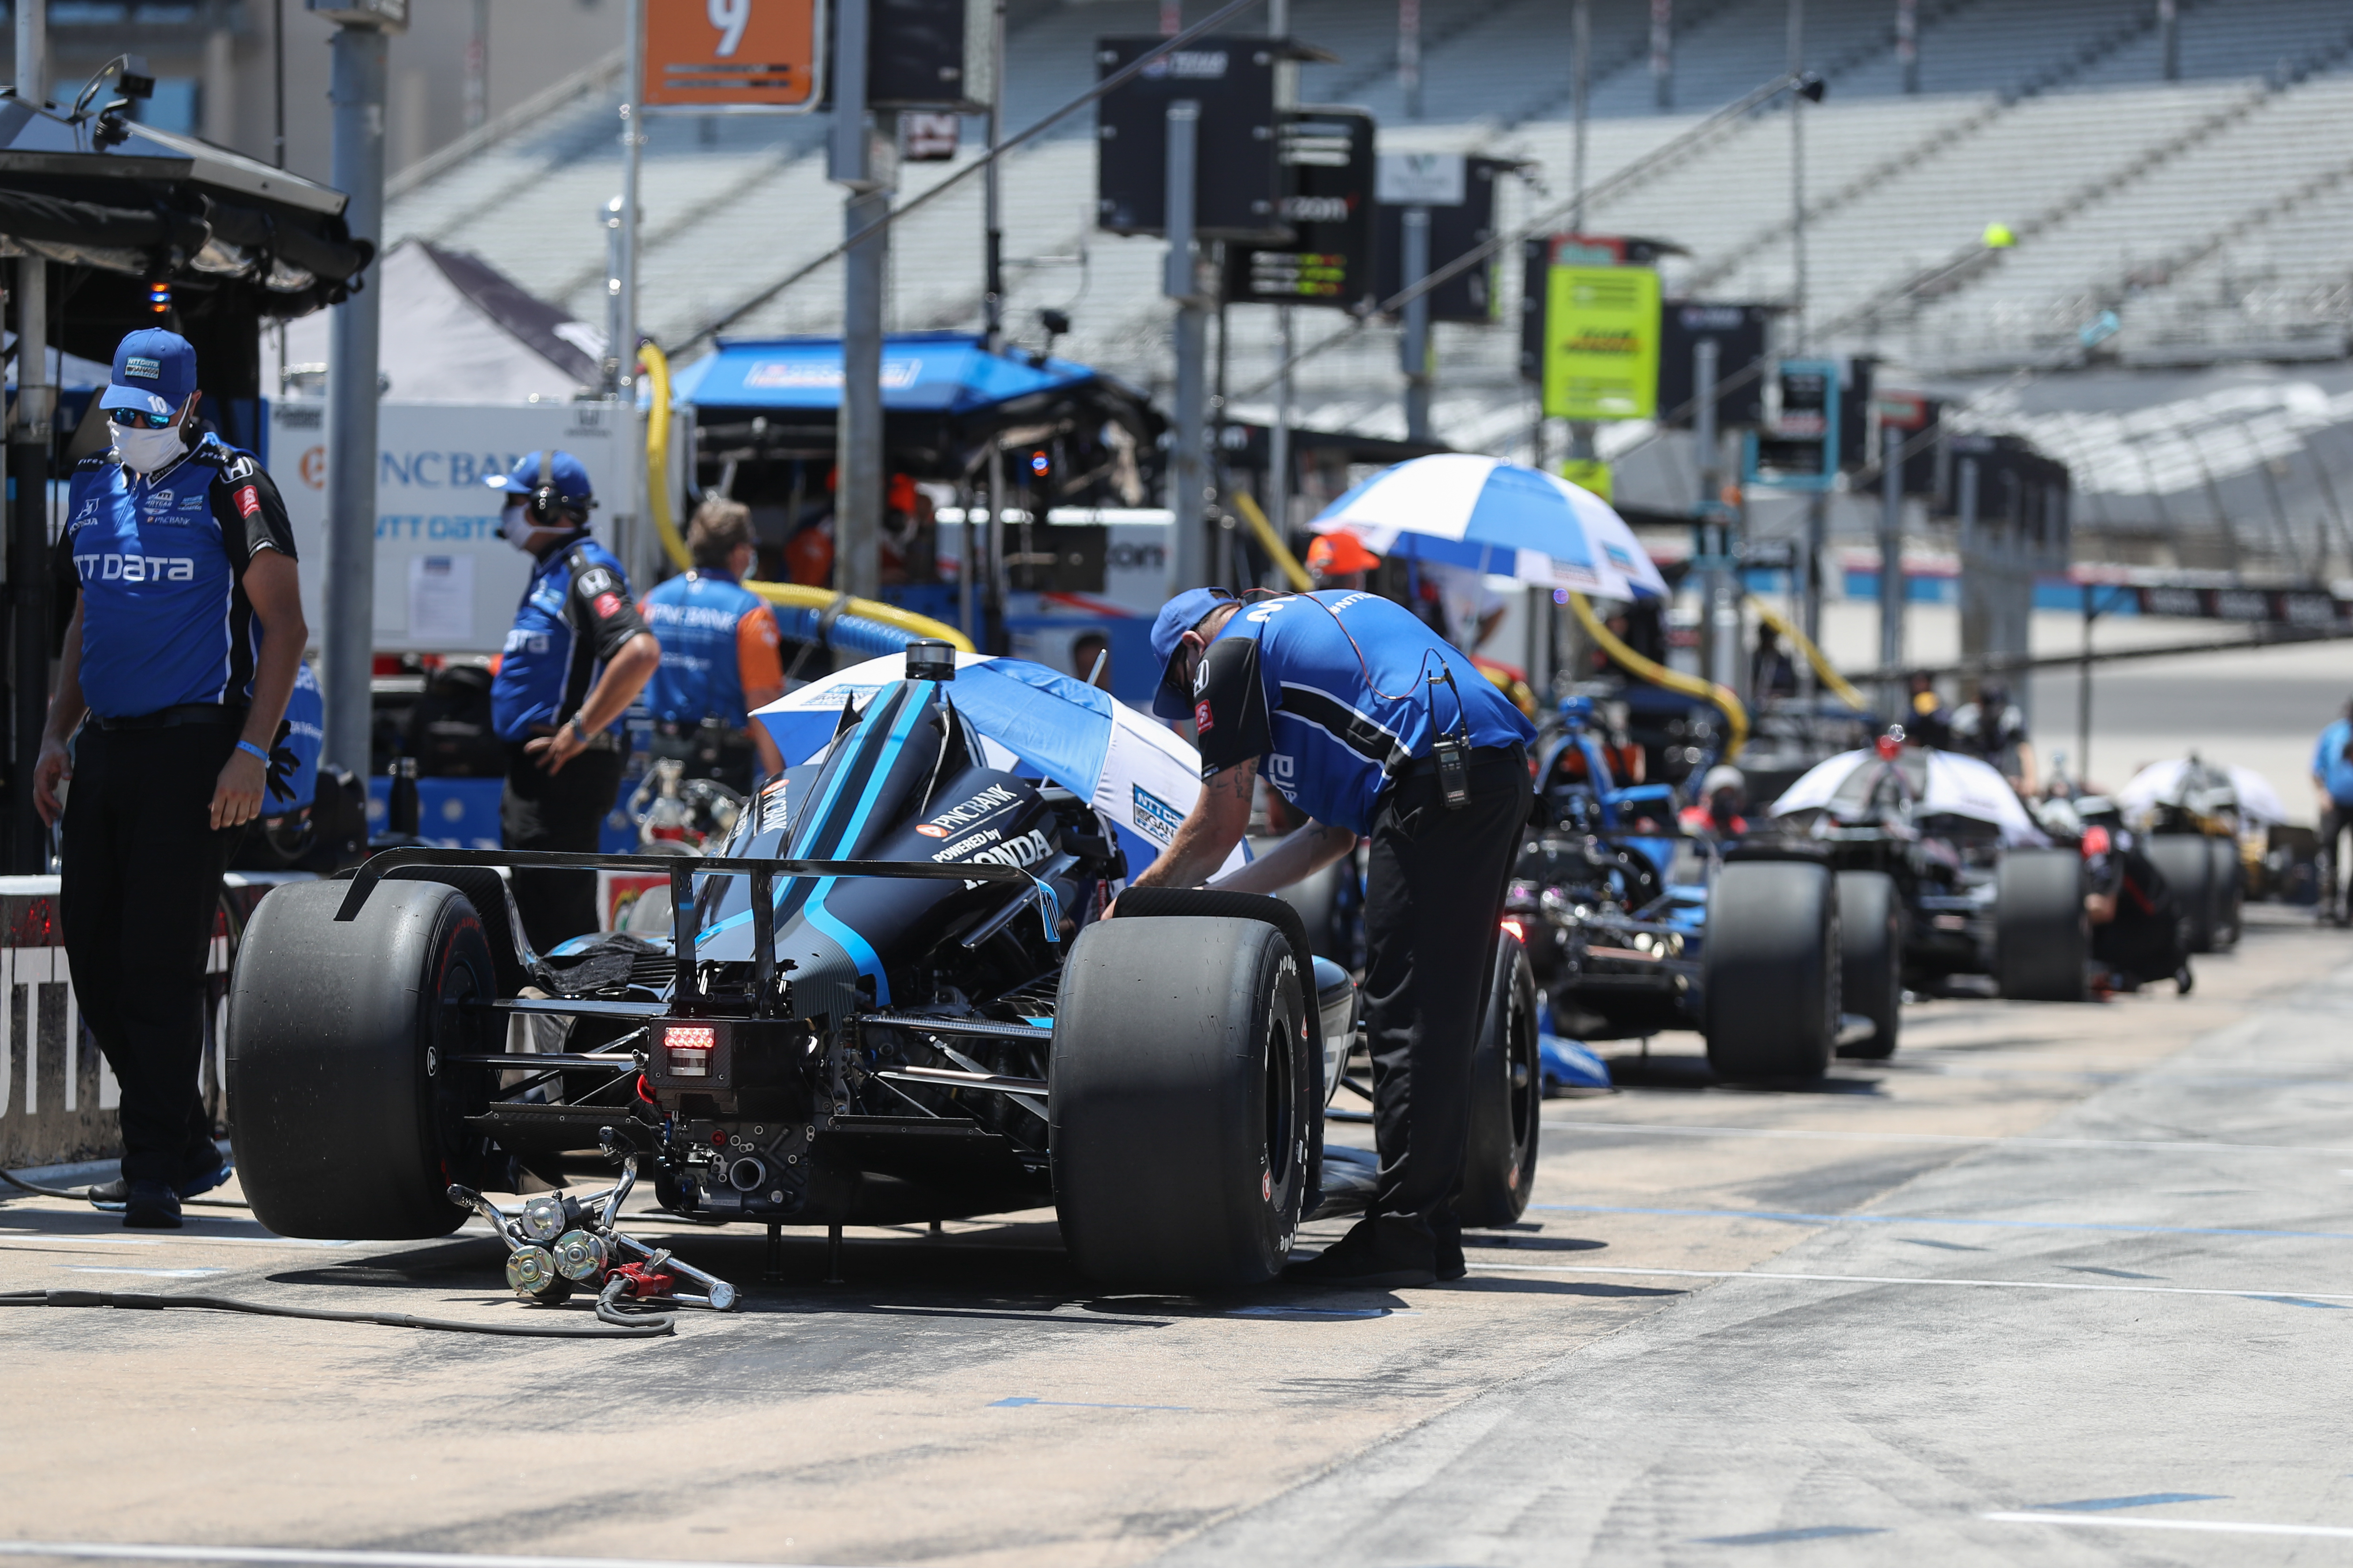
[[[1819,1079],[1838,1044],[1838,882],[1812,860],[1734,860],[1708,893],[1701,1027],[1715,1077]]]

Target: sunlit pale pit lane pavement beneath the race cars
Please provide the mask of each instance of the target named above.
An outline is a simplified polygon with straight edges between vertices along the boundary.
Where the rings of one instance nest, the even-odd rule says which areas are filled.
[[[0,1312],[0,1549],[762,1563],[2155,1561],[2353,1554],[2353,938],[2104,1006],[1932,1001],[1892,1063],[1546,1105],[1471,1279],[1106,1298],[1052,1215],[640,1234],[748,1288],[675,1340]],[[1362,1140],[1362,1126],[1334,1133]],[[1315,1227],[1306,1241],[1337,1234]],[[0,1288],[499,1319],[487,1234],[304,1246],[0,1204]],[[2021,1519],[2005,1519],[2021,1516]]]

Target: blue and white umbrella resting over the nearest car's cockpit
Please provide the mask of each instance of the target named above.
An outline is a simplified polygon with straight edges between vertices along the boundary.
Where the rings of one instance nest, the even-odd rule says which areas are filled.
[[[788,691],[753,717],[767,724],[786,764],[809,762],[833,743],[845,698],[864,708],[904,677],[906,654],[885,654]],[[1200,795],[1200,752],[1158,719],[1059,670],[958,654],[948,701],[981,736],[988,766],[1040,773],[1082,795],[1118,830],[1129,875],[1167,849]],[[1221,872],[1247,860],[1235,846]]]

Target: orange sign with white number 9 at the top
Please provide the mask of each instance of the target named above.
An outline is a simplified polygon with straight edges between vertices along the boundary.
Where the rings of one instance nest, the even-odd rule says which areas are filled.
[[[824,0],[645,0],[645,106],[816,108]]]

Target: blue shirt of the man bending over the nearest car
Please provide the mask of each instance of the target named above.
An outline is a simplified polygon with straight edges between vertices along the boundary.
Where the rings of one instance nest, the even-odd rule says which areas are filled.
[[[1433,691],[1445,670],[1452,684]],[[1431,755],[1435,729],[1471,745],[1537,738],[1520,710],[1419,616],[1369,592],[1282,595],[1228,618],[1193,684],[1202,778],[1259,776],[1318,823],[1372,832],[1381,790]]]

